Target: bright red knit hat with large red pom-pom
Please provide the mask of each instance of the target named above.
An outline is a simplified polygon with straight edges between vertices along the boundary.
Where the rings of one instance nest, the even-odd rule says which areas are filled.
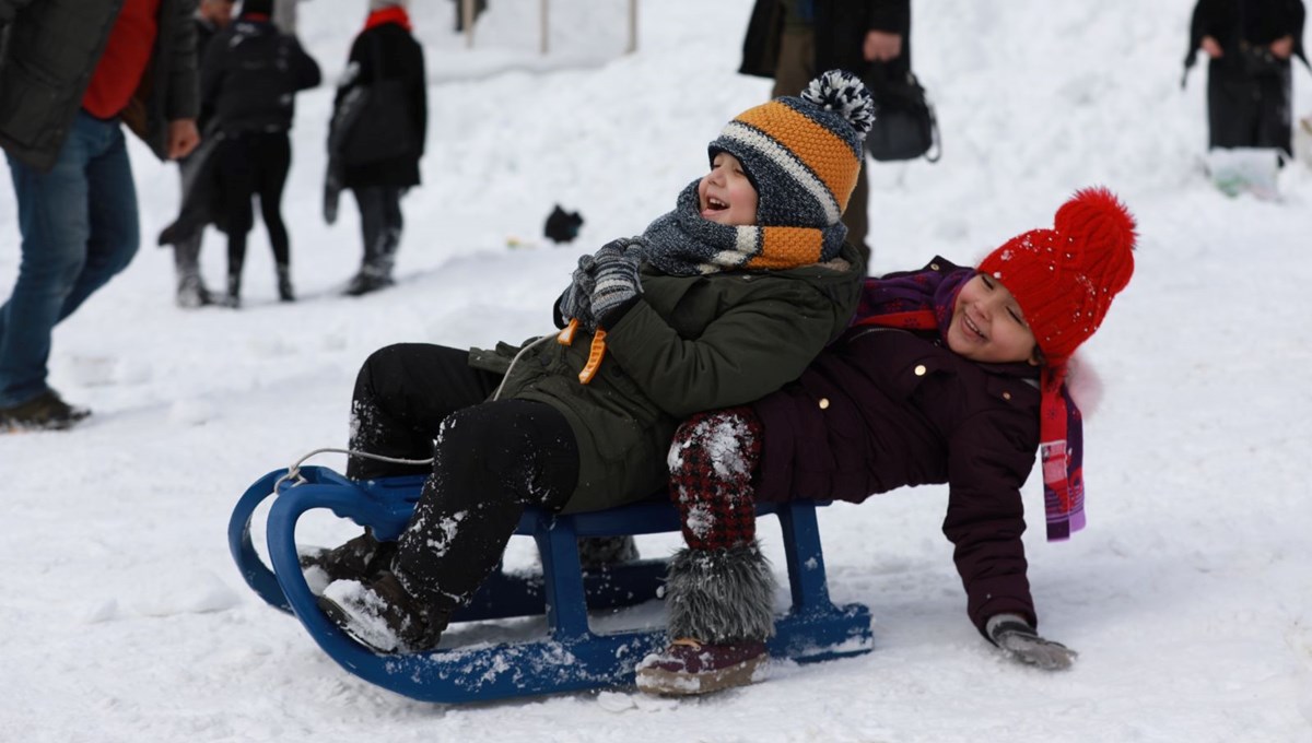
[[[1039,350],[1063,366],[1102,325],[1113,297],[1135,271],[1135,219],[1103,187],[1061,204],[1052,229],[1031,229],[980,261],[1015,296]]]

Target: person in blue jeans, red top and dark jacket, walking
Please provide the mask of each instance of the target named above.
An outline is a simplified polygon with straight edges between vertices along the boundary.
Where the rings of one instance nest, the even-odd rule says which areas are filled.
[[[195,0],[0,0],[0,147],[22,235],[0,305],[0,432],[89,414],[46,383],[51,334],[136,253],[121,123],[161,160],[199,143],[194,10]]]

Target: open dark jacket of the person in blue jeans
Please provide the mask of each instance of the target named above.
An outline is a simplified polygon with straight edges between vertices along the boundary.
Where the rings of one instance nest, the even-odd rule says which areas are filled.
[[[49,170],[64,147],[122,0],[0,0],[0,147]],[[168,122],[194,119],[195,0],[160,0],[151,66],[123,122],[168,157]]]

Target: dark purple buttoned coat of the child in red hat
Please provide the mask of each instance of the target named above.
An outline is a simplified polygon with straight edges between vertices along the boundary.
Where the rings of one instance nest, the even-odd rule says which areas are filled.
[[[942,258],[934,270],[955,270]],[[1021,535],[1021,486],[1039,447],[1038,370],[980,364],[937,333],[855,326],[798,381],[756,402],[757,498],[859,503],[908,485],[949,485],[943,533],[971,621],[1036,622]]]

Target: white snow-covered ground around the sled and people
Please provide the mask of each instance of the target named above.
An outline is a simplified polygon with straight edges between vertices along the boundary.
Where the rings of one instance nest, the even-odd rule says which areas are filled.
[[[329,80],[363,5],[302,9]],[[0,438],[0,739],[1312,740],[1312,173],[1287,168],[1279,202],[1225,198],[1202,177],[1204,73],[1179,89],[1187,0],[917,0],[916,69],[943,160],[871,169],[874,273],[974,261],[1048,225],[1084,185],[1139,218],[1138,274],[1086,346],[1106,388],[1086,425],[1089,528],[1056,545],[1027,535],[1043,629],[1081,653],[1071,672],[1010,664],[975,633],[933,487],[821,511],[834,599],[875,616],[876,649],[857,659],[778,667],[703,700],[461,708],[338,668],[243,584],[224,541],[236,498],[344,442],[371,350],[547,332],[575,257],[666,211],[706,142],[769,90],[733,72],[749,0],[642,3],[634,55],[626,0],[558,0],[548,58],[537,1],[495,0],[472,50],[450,3],[413,5],[429,153],[394,290],[337,295],[359,237],[349,197],[336,227],[319,216],[329,86],[299,98],[293,132],[291,305],[257,227],[243,309],[173,307],[171,254],[150,238],[173,216],[177,173],[134,143],[147,245],[58,329],[51,358],[52,384],[96,414]],[[1309,113],[1302,67],[1295,89]],[[573,245],[541,244],[555,203],[586,220]],[[4,186],[0,286],[17,256]],[[203,262],[216,284],[214,233]],[[333,544],[353,529],[303,532]],[[762,533],[782,565],[777,532]],[[640,540],[648,554],[674,545]],[[529,560],[517,539],[510,562]]]

